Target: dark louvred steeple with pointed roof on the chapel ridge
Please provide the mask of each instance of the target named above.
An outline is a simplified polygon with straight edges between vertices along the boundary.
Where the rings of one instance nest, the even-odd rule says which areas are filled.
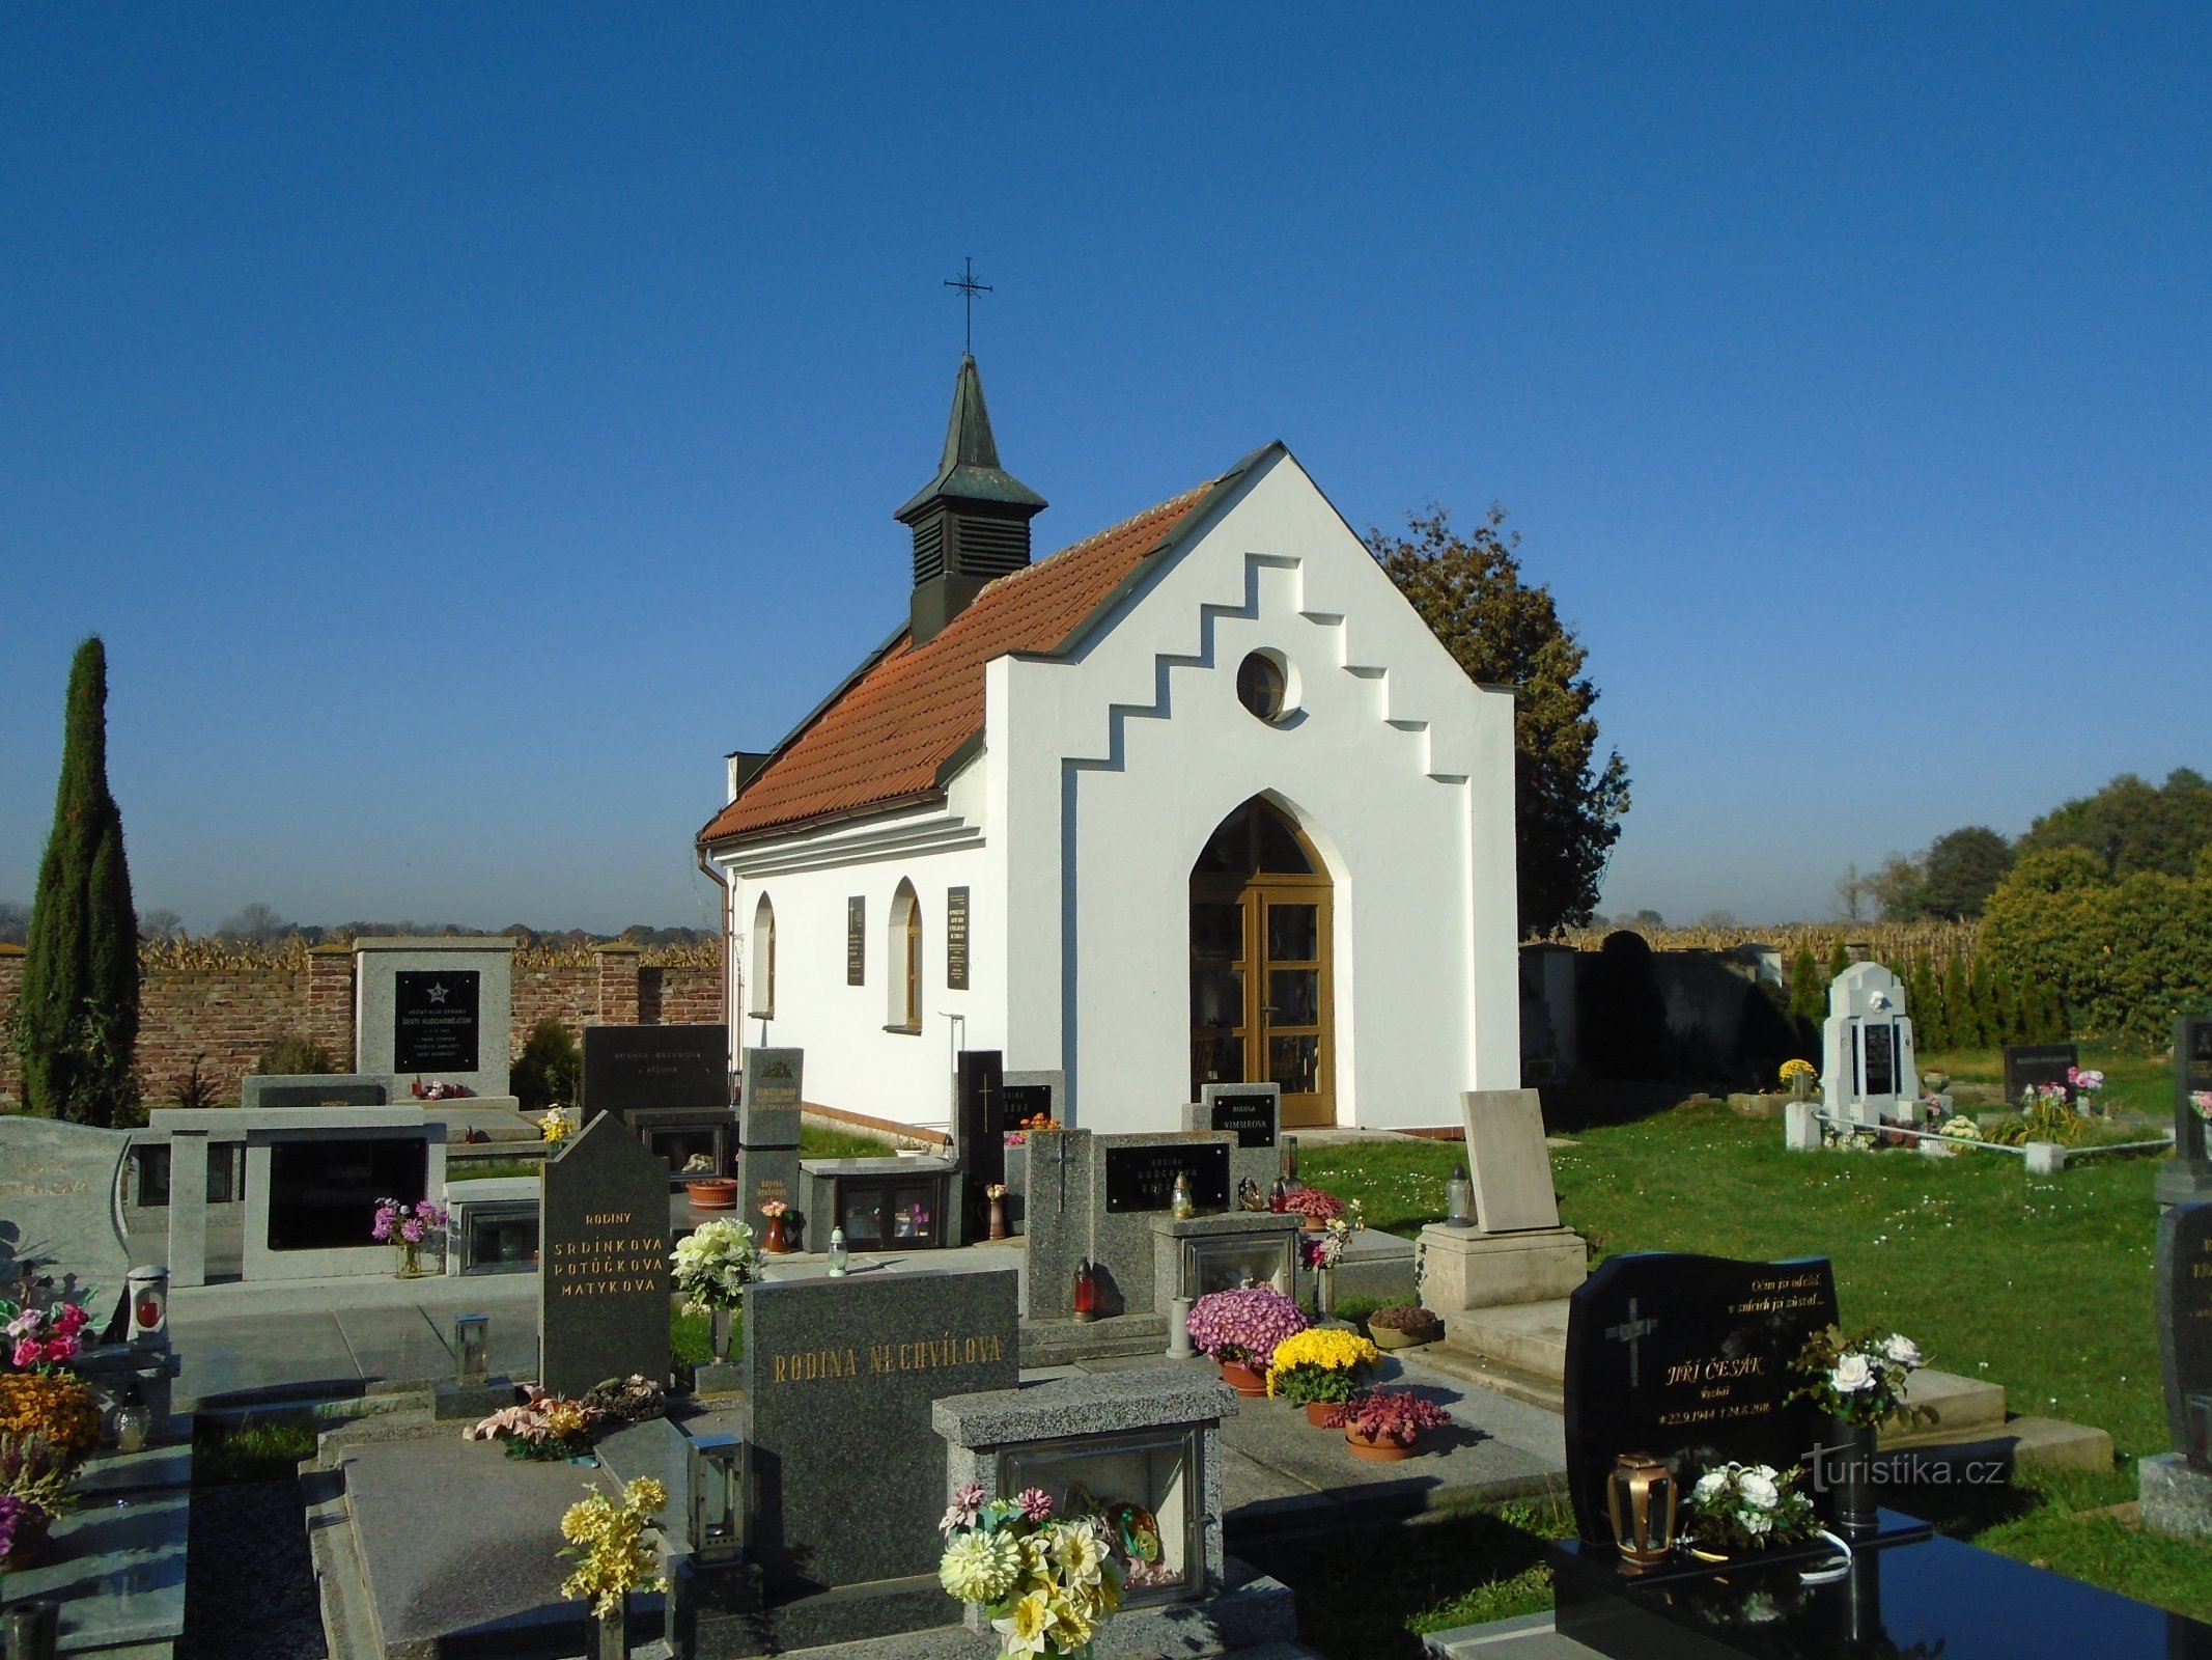
[[[960,359],[945,458],[894,518],[914,529],[914,644],[936,640],[982,587],[1029,564],[1029,520],[1046,500],[998,465],[975,359]]]

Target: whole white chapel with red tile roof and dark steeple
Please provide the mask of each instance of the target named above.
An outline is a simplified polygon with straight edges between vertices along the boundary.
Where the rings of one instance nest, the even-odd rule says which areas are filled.
[[[699,832],[732,1069],[801,1047],[810,1102],[942,1127],[998,1049],[1093,1131],[1206,1082],[1385,1129],[1517,1087],[1511,693],[1281,443],[1031,560],[1044,505],[962,359],[907,620]]]

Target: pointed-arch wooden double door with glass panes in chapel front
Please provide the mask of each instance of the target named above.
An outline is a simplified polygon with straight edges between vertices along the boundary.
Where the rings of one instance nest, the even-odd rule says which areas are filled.
[[[1283,1124],[1336,1122],[1329,872],[1263,797],[1221,821],[1190,868],[1190,1098],[1283,1087]]]

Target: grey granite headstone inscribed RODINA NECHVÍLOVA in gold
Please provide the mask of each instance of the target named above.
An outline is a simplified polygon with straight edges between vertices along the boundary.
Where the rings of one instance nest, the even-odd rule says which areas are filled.
[[[772,1591],[936,1571],[931,1408],[1015,1386],[1015,1279],[925,1270],[745,1290],[745,1552]]]

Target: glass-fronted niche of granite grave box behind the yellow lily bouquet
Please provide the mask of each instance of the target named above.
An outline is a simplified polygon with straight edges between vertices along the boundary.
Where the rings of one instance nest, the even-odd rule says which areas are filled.
[[[1097,1516],[1124,1602],[1206,1594],[1199,1428],[1018,1441],[998,1450],[998,1492],[1042,1487],[1055,1516]]]

